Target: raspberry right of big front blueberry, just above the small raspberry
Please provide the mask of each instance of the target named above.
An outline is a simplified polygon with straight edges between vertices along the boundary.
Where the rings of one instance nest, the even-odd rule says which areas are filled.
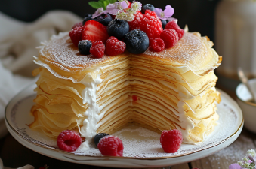
[[[179,41],[179,36],[174,29],[165,29],[161,33],[160,38],[165,41],[165,48],[173,47]]]

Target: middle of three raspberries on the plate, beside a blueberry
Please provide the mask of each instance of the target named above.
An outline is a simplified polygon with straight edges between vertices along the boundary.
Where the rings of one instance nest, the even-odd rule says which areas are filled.
[[[97,148],[100,150],[102,155],[109,156],[122,156],[124,146],[122,140],[115,136],[106,136],[100,139]]]

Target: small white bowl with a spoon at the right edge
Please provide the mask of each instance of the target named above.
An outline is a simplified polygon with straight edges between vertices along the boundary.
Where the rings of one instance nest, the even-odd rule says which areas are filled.
[[[252,91],[256,92],[256,79],[248,80]],[[252,96],[247,87],[240,83],[236,87],[237,103],[242,110],[245,119],[245,128],[256,133],[256,103],[250,102]]]

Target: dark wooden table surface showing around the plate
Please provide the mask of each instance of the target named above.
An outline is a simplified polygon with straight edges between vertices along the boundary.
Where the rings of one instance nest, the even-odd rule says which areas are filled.
[[[220,86],[217,86],[221,88]],[[233,91],[229,89],[224,89],[224,92],[227,92],[232,98],[236,98]],[[202,158],[196,161],[191,161],[185,164],[179,164],[175,166],[161,167],[161,168],[171,168],[171,169],[191,169],[191,168],[200,168],[200,169],[226,169],[230,164],[235,163],[242,159],[248,149],[256,149],[256,134],[251,133],[250,131],[243,128],[242,134],[238,139],[228,146],[225,149],[222,149],[220,152],[210,155],[206,158]],[[33,152],[30,149],[27,149],[25,146],[22,146],[11,134],[3,137],[0,140],[0,157],[4,163],[5,167],[22,167],[26,164],[31,164],[38,169],[43,167],[45,164],[49,166],[49,169],[85,169],[85,168],[106,168],[106,167],[94,167],[89,165],[82,164],[73,164],[65,161],[59,161],[54,158],[49,158],[45,155],[41,155],[37,152]]]

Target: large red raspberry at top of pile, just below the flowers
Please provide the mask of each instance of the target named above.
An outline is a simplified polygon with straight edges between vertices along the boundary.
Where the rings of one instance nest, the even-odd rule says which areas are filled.
[[[145,32],[149,38],[160,37],[162,32],[162,22],[154,11],[146,10],[141,24],[141,30]]]

